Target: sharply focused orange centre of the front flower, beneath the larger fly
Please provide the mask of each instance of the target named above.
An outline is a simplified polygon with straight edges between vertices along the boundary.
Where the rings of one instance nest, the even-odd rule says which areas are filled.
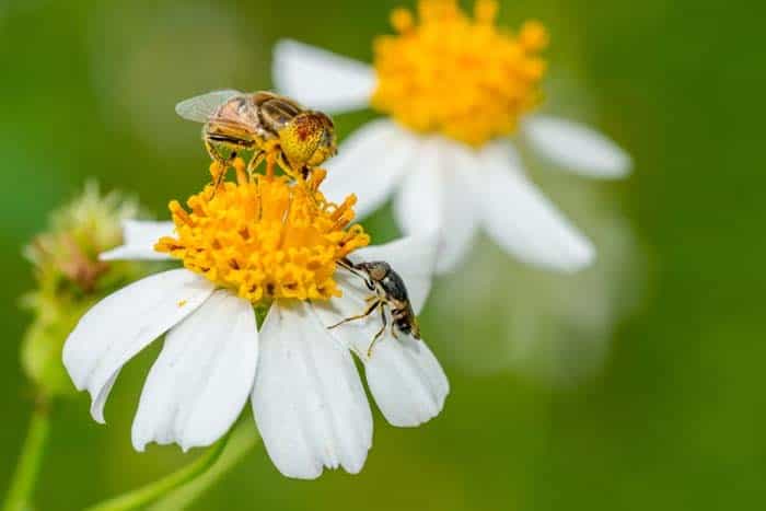
[[[177,236],[163,237],[155,249],[253,303],[339,297],[336,262],[370,242],[360,225],[346,229],[356,197],[340,206],[326,201],[318,169],[297,185],[260,174],[249,182],[243,165],[237,162],[237,183],[192,196],[190,211],[172,201]]]

